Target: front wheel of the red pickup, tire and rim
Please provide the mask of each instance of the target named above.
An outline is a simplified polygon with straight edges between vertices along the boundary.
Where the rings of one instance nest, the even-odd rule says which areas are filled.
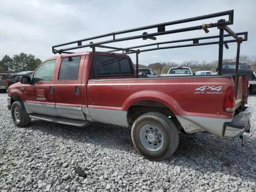
[[[13,102],[11,113],[12,120],[14,124],[18,127],[27,126],[31,121],[31,118],[29,117],[29,114],[27,114],[25,106],[22,101]]]

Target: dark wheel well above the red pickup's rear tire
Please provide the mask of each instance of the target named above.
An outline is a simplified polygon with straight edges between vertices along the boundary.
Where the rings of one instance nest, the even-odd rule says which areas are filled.
[[[168,106],[166,106],[165,104],[154,100],[142,100],[132,104],[127,112],[128,124],[132,125],[139,116],[148,112],[160,112],[162,114],[165,114],[172,119],[178,130],[182,128],[180,122],[178,122],[172,110],[170,110],[170,108],[168,108]]]

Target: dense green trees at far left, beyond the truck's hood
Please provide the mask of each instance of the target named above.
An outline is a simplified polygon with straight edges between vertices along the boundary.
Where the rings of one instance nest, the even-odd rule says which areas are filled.
[[[12,56],[5,55],[0,60],[0,73],[16,73],[20,71],[34,71],[42,60],[32,54],[24,52]]]

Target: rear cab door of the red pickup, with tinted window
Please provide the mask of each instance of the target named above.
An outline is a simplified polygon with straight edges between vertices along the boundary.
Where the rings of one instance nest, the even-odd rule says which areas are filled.
[[[81,82],[84,56],[63,56],[54,84],[58,116],[86,120],[82,112]]]

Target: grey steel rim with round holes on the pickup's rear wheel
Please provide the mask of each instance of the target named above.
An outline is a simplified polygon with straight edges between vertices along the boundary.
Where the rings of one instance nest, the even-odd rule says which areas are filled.
[[[157,126],[146,124],[140,129],[140,142],[150,151],[158,151],[163,146],[164,137]]]

